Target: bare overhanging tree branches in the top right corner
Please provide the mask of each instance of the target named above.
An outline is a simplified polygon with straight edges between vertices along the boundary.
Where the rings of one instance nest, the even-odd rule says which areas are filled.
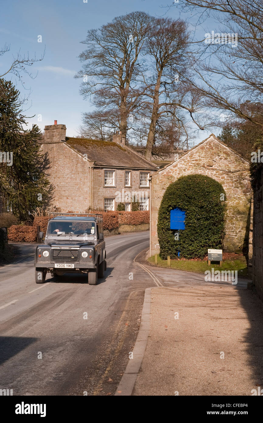
[[[200,40],[198,58],[192,63],[195,77],[189,80],[193,92],[203,98],[204,107],[227,111],[230,120],[239,118],[262,127],[260,114],[244,104],[263,103],[263,3],[184,0],[184,10],[195,11],[198,22],[210,16],[222,25],[210,41]],[[229,36],[235,36],[236,42]]]

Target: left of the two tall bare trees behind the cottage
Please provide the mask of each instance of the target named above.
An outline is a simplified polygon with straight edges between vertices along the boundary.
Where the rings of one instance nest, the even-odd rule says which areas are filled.
[[[75,76],[83,78],[81,93],[84,98],[92,96],[102,112],[114,104],[125,140],[127,116],[136,109],[141,95],[136,77],[143,71],[143,61],[138,58],[152,20],[140,11],[118,16],[98,30],[89,30],[82,41],[88,48],[79,56],[83,65]]]

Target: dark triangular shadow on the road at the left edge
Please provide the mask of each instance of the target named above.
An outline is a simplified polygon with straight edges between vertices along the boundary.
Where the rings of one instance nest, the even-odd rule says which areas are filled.
[[[0,364],[27,348],[38,338],[21,338],[16,336],[0,336]]]

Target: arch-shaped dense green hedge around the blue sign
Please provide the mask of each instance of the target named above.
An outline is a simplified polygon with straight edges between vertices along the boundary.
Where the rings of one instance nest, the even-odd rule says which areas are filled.
[[[225,200],[220,200],[224,194]],[[170,229],[170,210],[186,212],[185,229]],[[167,187],[159,208],[157,232],[160,256],[204,258],[208,248],[222,248],[225,236],[226,194],[219,182],[208,176],[181,176]],[[179,239],[174,234],[179,232]]]

